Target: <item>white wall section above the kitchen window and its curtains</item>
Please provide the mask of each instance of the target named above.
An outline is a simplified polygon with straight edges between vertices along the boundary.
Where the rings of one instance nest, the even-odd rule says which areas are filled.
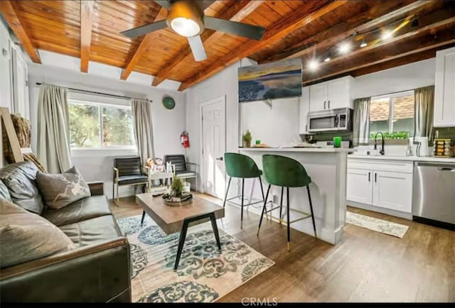
[[[434,84],[436,59],[393,67],[355,78],[355,98],[402,92]]]

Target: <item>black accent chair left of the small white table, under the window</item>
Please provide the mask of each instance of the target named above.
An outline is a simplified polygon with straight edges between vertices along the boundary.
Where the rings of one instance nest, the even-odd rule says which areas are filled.
[[[144,185],[149,189],[149,177],[142,172],[141,158],[139,156],[129,158],[114,158],[114,181],[112,183],[112,198],[119,205],[119,186]],[[115,184],[117,184],[117,198],[115,198]]]

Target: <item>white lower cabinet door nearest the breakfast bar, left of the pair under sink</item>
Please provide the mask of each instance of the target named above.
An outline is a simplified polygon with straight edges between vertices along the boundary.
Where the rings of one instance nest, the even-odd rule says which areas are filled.
[[[359,203],[372,204],[372,173],[370,170],[348,169],[346,199]]]

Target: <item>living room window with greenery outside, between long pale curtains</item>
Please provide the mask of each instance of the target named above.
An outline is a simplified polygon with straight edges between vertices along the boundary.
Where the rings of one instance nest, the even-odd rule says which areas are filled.
[[[131,148],[131,107],[69,101],[71,148]]]

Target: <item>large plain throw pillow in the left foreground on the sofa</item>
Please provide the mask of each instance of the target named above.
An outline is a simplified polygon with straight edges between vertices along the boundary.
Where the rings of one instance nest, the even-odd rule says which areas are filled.
[[[57,226],[0,199],[0,266],[21,264],[76,248]]]

